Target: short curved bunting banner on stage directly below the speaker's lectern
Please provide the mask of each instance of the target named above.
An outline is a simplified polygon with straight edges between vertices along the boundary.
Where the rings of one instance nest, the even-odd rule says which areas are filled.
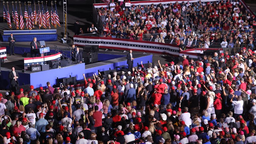
[[[33,64],[47,64],[50,60],[60,60],[60,57],[61,53],[59,52],[45,57],[24,58],[24,67],[30,67]]]

